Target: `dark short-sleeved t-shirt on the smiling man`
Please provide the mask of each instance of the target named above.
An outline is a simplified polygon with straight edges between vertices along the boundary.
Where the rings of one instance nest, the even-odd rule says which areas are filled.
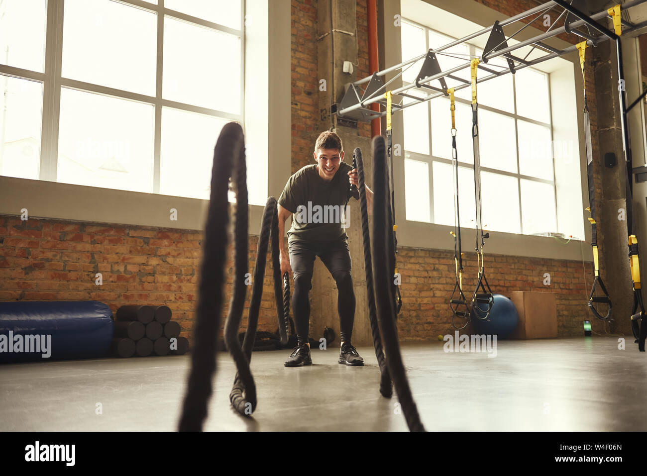
[[[348,172],[353,169],[340,162],[333,180],[326,182],[319,177],[317,164],[302,167],[285,184],[278,203],[292,212],[292,226],[287,232],[288,243],[292,241],[346,240],[342,225],[344,205],[350,196]]]

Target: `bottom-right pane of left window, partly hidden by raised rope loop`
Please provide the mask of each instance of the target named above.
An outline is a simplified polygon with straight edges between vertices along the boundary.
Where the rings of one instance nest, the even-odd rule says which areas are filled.
[[[228,121],[162,108],[160,193],[209,199],[215,142]]]

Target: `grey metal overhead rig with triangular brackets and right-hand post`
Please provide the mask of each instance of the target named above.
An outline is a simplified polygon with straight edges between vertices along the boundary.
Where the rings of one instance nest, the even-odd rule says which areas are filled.
[[[584,0],[571,0],[567,2],[565,0],[552,0],[538,5],[530,10],[522,12],[518,15],[512,16],[503,21],[496,21],[491,27],[483,28],[477,32],[474,32],[468,36],[465,36],[461,39],[457,39],[444,45],[439,48],[430,49],[424,54],[411,58],[410,60],[403,61],[397,65],[388,67],[384,70],[373,72],[371,76],[362,78],[361,80],[355,81],[353,83],[348,83],[346,85],[346,91],[342,101],[338,104],[333,104],[331,107],[331,113],[337,114],[341,118],[355,120],[358,122],[370,122],[373,119],[381,118],[383,116],[388,116],[390,118],[392,113],[397,113],[402,111],[407,107],[411,107],[418,103],[426,102],[437,98],[439,96],[449,96],[450,92],[446,83],[445,78],[450,78],[454,81],[457,81],[461,84],[456,85],[453,90],[459,91],[466,87],[472,86],[474,91],[474,84],[472,83],[482,83],[483,81],[489,81],[493,78],[498,78],[508,73],[514,74],[516,71],[523,69],[525,67],[531,67],[533,65],[538,65],[543,61],[551,60],[553,58],[558,58],[564,56],[571,52],[577,50],[582,54],[583,50],[586,49],[588,45],[597,46],[600,41],[606,41],[608,39],[614,41],[615,48],[617,52],[617,71],[619,84],[624,83],[624,69],[622,66],[622,44],[620,42],[620,35],[631,34],[635,36],[639,34],[644,28],[647,28],[647,21],[639,24],[632,24],[628,21],[625,21],[620,17],[621,11],[629,10],[635,6],[645,3],[647,0],[633,0],[627,1],[624,5],[615,5],[607,10],[597,12],[595,14],[588,15],[582,10],[586,8],[586,1]],[[534,38],[526,39],[519,41],[515,45],[509,45],[508,41],[513,39],[518,35],[522,30],[529,27],[534,23],[534,21],[542,17],[549,10],[553,8],[561,8],[562,12],[553,22],[553,26],[549,27],[548,30]],[[525,22],[523,27],[519,28],[506,38],[503,27],[512,25],[513,23],[524,20],[528,17],[535,16],[533,19]],[[559,20],[565,16],[564,25],[559,28],[556,27]],[[608,28],[600,25],[598,20],[600,19],[613,19],[613,31]],[[580,27],[585,27],[586,31]],[[578,44],[573,44],[570,47],[565,49],[556,49],[544,43],[545,40],[553,38],[560,34],[573,34],[582,39]],[[441,70],[437,55],[446,54],[443,53],[444,50],[455,47],[456,45],[461,45],[467,43],[470,39],[477,38],[481,35],[488,35],[487,43],[483,49],[483,54],[480,57],[472,58],[471,61],[468,61],[462,65],[450,68],[448,70]],[[528,52],[524,58],[515,56],[512,54],[515,50],[532,45],[532,49]],[[539,50],[545,54],[542,54],[538,58],[529,60],[529,56],[532,51]],[[454,56],[448,54],[448,56]],[[488,65],[488,61],[503,57],[507,63],[507,67],[502,67],[501,70],[495,70]],[[410,84],[403,85],[401,87],[396,87],[395,89],[389,89],[389,84],[395,81],[397,78],[402,76],[405,70],[413,66],[417,61],[422,60],[422,67],[418,75],[416,76],[415,81]],[[481,78],[472,78],[472,81],[467,80],[466,78],[461,78],[457,76],[461,70],[469,70],[470,66],[476,63],[479,69],[484,70],[490,74],[483,76]],[[501,67],[500,65],[494,65],[495,67]],[[474,69],[472,67],[472,69]],[[584,65],[582,64],[582,69],[584,70]],[[393,77],[386,81],[386,76],[388,74],[393,74]],[[433,81],[438,81],[439,85],[432,85]],[[366,84],[364,90],[362,91],[363,85]],[[430,92],[425,96],[417,96],[411,94],[411,89],[416,88],[418,91],[421,89],[429,90]],[[629,258],[631,265],[631,282],[633,290],[633,310],[631,315],[631,328],[633,334],[636,338],[637,343],[639,344],[639,350],[644,352],[644,344],[647,338],[647,313],[645,312],[644,305],[642,303],[641,295],[641,279],[640,279],[640,270],[639,270],[639,250],[638,250],[638,240],[637,240],[637,229],[635,225],[635,215],[633,213],[633,168],[631,164],[631,149],[629,142],[629,128],[628,128],[628,111],[638,103],[641,98],[646,96],[647,92],[643,92],[637,100],[635,100],[629,107],[627,107],[627,102],[625,98],[624,89],[620,91],[619,102],[620,102],[620,121],[622,128],[622,148],[624,153],[625,165],[626,165],[626,211],[627,211],[627,225],[628,225],[628,247],[629,247]],[[385,100],[385,98],[388,98]],[[405,103],[406,100],[410,102]],[[373,111],[370,109],[372,103],[380,103],[386,107],[386,111]],[[473,109],[475,107],[473,106]],[[475,171],[476,172],[476,171]],[[392,171],[391,171],[392,174]],[[590,179],[590,177],[589,177]],[[391,206],[393,204],[391,203]],[[479,204],[477,204],[478,208]],[[600,281],[598,279],[598,257],[597,257],[597,241],[595,240],[595,219],[589,219],[593,226],[593,251],[595,254],[595,275],[596,280],[594,281],[593,288],[591,290],[591,296],[589,296],[589,307],[595,310],[595,303],[608,303],[609,310],[606,316],[598,314],[597,311],[594,312],[596,316],[604,320],[610,319],[611,314],[611,301],[608,294],[606,293],[606,288],[600,282],[600,288],[604,290],[606,296],[604,297],[595,297],[596,283]],[[484,235],[485,237],[485,235]],[[477,246],[478,248],[478,246]],[[478,250],[477,250],[478,251]],[[482,255],[481,255],[482,259]],[[481,276],[481,274],[479,274]],[[476,296],[476,294],[475,294]],[[473,300],[474,302],[474,300]],[[490,305],[491,307],[491,305]]]

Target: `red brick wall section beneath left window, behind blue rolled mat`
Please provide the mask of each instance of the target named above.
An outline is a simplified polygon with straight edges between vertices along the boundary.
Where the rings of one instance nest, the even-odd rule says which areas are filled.
[[[0,301],[84,301],[110,306],[167,305],[182,335],[193,339],[203,235],[193,230],[0,216]],[[249,237],[249,272],[258,236]],[[223,323],[232,286],[232,243],[225,268]],[[271,263],[271,262],[269,262]],[[95,284],[96,273],[103,284]],[[251,297],[248,288],[243,327]],[[265,274],[259,329],[276,330],[271,264]],[[274,309],[272,309],[274,306]]]

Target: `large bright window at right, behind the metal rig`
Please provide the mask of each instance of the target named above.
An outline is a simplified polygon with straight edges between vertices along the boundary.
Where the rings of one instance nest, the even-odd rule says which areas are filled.
[[[402,60],[454,41],[412,21],[402,23]],[[465,43],[438,54],[442,70],[468,63],[483,52]],[[450,54],[451,56],[446,56]],[[422,60],[404,72],[413,83]],[[488,61],[490,69],[507,67]],[[490,73],[479,70],[479,77]],[[455,73],[469,80],[469,69]],[[461,85],[446,78],[448,87]],[[435,81],[435,86],[438,86]],[[425,96],[428,90],[417,90]],[[531,68],[479,83],[481,206],[486,230],[509,233],[559,232],[553,164],[549,78]],[[441,96],[404,109],[406,218],[454,224],[451,115]],[[461,226],[475,228],[474,150],[471,89],[456,92],[457,155]]]

